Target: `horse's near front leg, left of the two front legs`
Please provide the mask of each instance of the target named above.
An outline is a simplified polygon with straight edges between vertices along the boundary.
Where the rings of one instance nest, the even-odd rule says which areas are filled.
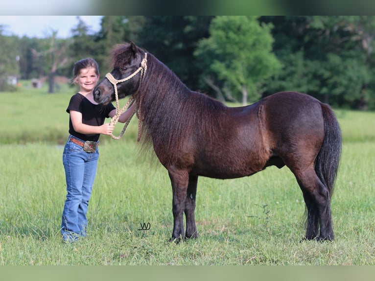
[[[173,232],[171,241],[184,239],[184,211],[189,175],[185,170],[168,169],[172,184]]]

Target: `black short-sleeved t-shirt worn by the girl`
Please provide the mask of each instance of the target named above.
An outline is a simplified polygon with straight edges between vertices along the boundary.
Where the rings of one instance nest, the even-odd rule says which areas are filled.
[[[82,113],[82,123],[91,126],[101,126],[104,124],[105,118],[108,118],[108,114],[116,109],[112,103],[107,105],[94,104],[88,100],[82,94],[75,94],[70,98],[70,102],[67,108],[67,112],[70,110],[78,111]],[[100,134],[84,135],[74,131],[71,118],[69,117],[69,133],[70,135],[77,137],[83,141],[98,141]]]

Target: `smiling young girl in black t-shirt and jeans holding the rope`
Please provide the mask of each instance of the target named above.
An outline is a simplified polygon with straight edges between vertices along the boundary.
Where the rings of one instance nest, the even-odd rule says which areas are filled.
[[[75,242],[80,236],[86,236],[86,213],[99,157],[98,140],[100,134],[112,134],[114,126],[104,124],[104,119],[116,115],[112,103],[103,106],[94,101],[93,90],[99,80],[99,68],[94,59],[86,58],[76,62],[73,77],[79,92],[70,98],[67,108],[70,114],[70,136],[63,153],[68,194],[62,215],[61,234],[67,242]],[[134,110],[133,105],[118,121],[126,122]]]

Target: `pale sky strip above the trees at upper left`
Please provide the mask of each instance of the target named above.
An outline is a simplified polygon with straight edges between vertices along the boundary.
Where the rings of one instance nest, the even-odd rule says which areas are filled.
[[[93,32],[100,30],[102,16],[79,16]],[[78,24],[77,16],[0,16],[3,35],[46,38],[57,31],[57,37],[70,37]]]

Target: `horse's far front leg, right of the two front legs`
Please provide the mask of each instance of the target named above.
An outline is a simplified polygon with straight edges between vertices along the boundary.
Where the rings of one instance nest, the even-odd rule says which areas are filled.
[[[195,197],[197,194],[198,176],[189,176],[188,190],[185,199],[186,238],[196,238]]]

